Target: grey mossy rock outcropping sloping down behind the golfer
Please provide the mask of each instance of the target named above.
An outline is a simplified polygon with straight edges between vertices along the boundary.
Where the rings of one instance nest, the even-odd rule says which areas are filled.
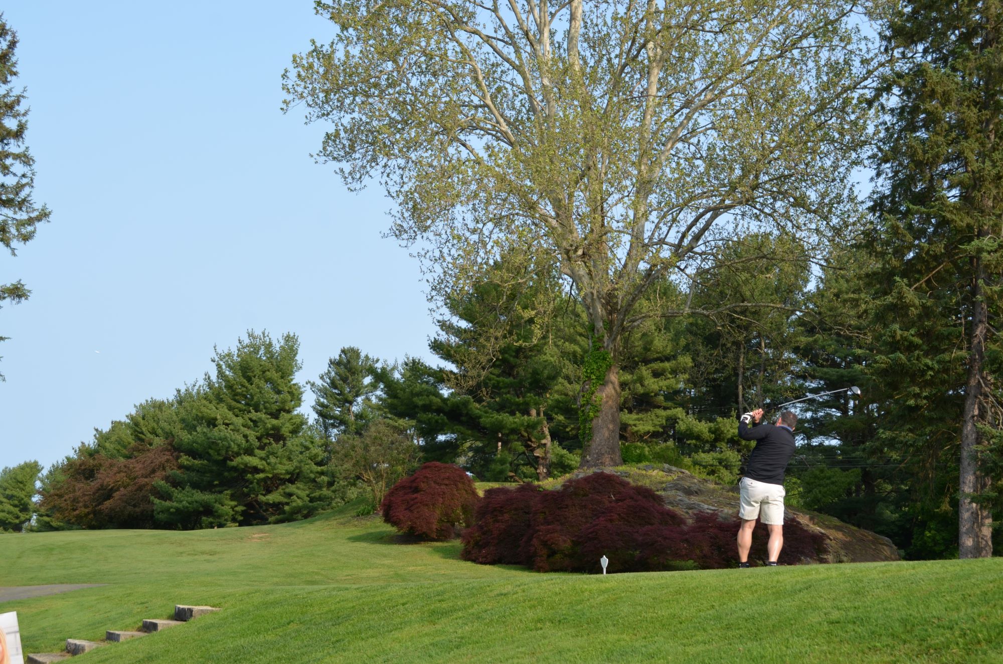
[[[642,465],[637,468],[596,468],[658,491],[665,506],[687,519],[695,513],[717,513],[723,519],[738,519],[738,486],[722,486],[672,465]],[[580,470],[567,478],[581,477]],[[559,485],[553,482],[551,486]],[[787,507],[785,521],[796,521],[804,528],[823,534],[827,552],[816,563],[879,563],[898,561],[899,550],[888,538],[845,524],[838,519],[806,510]]]

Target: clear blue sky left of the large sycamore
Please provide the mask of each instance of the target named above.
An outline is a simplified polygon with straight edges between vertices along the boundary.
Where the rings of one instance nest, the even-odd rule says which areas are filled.
[[[280,110],[292,54],[331,34],[310,0],[3,11],[53,215],[0,256],[0,283],[33,291],[0,310],[0,467],[62,458],[249,328],[299,335],[301,381],[346,345],[427,356],[417,262],[380,237],[388,201],[345,191],[309,156],[324,127]]]

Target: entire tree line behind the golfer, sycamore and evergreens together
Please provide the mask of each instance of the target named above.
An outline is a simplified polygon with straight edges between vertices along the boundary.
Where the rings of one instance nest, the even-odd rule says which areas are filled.
[[[142,492],[116,473],[152,472],[143,523],[177,528],[302,518],[360,481],[373,501],[418,453],[498,480],[651,460],[731,481],[735,414],[856,384],[799,409],[791,497],[912,558],[992,555],[998,4],[316,11],[334,36],[294,55],[287,110],[330,125],[318,155],[346,186],[394,202],[436,361],[343,349],[310,421],[295,337],[249,334],[50,469],[43,508],[77,465],[81,486],[107,474],[102,506]]]

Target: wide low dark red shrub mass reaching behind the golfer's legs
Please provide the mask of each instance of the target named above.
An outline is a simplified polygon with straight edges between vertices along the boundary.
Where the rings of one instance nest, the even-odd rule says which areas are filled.
[[[463,535],[462,558],[481,564],[526,565],[540,572],[645,572],[695,565],[738,564],[738,520],[698,513],[689,524],[644,486],[606,472],[573,479],[554,491],[530,484],[484,493],[475,525]],[[824,536],[796,522],[784,526],[780,563],[817,559]],[[766,529],[753,535],[751,560],[765,560]]]

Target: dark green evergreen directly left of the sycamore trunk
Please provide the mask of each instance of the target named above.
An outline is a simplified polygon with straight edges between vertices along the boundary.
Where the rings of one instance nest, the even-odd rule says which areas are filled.
[[[574,374],[586,341],[576,331],[587,325],[572,302],[559,316],[538,317],[539,302],[553,307],[562,299],[553,269],[513,260],[491,274],[513,269],[526,271],[520,286],[507,288],[500,285],[505,279],[493,279],[451,300],[452,316],[439,321],[440,333],[429,348],[453,367],[445,378],[469,399],[463,424],[473,435],[464,451],[474,471],[506,479],[528,466],[535,478],[547,479],[551,423],[577,419],[573,394],[580,381]],[[488,345],[493,349],[484,348]],[[477,366],[484,357],[489,363]]]

